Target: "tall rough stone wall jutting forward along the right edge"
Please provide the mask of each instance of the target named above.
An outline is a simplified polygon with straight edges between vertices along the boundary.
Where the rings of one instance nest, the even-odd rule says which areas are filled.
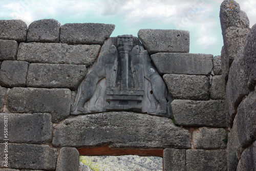
[[[229,130],[227,167],[228,170],[256,170],[256,26],[249,29],[248,17],[235,1],[222,3],[220,19]]]

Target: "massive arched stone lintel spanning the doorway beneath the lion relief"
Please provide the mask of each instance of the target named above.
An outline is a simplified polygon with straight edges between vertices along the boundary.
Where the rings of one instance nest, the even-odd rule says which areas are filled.
[[[76,132],[76,134],[74,134]],[[108,112],[66,119],[54,127],[54,146],[110,148],[189,148],[190,133],[172,119]]]

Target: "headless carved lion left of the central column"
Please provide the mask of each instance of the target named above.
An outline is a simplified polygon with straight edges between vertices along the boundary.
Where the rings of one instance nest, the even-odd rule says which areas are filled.
[[[114,45],[109,50],[100,52],[97,63],[83,79],[78,87],[74,104],[71,106],[71,114],[78,115],[85,113],[84,103],[91,99],[98,82],[105,77],[106,89],[112,90],[115,87],[117,69],[117,49]]]

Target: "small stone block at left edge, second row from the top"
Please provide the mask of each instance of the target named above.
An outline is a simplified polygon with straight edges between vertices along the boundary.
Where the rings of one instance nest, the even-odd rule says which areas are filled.
[[[16,60],[18,51],[18,42],[15,40],[0,40],[0,61]]]

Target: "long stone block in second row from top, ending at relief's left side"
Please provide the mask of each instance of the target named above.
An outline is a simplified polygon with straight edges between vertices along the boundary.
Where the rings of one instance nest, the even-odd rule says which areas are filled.
[[[90,66],[96,59],[99,45],[67,45],[57,43],[21,43],[17,60],[35,63],[60,63]]]

